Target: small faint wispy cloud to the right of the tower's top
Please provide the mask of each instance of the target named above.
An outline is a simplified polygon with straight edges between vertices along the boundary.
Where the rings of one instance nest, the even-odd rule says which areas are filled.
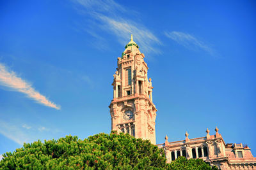
[[[192,36],[191,34],[178,31],[164,32],[164,34],[168,38],[172,39],[173,41],[176,41],[177,43],[185,46],[186,48],[189,48],[191,50],[195,48],[201,48],[205,52],[214,55],[214,50],[211,47],[206,45],[203,41],[200,41],[199,39],[195,38],[195,36]]]

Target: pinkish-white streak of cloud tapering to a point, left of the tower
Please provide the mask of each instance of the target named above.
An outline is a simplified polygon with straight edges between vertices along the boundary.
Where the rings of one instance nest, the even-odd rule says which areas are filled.
[[[60,110],[60,106],[49,101],[45,96],[37,92],[31,84],[22,78],[18,77],[13,71],[9,71],[4,64],[0,63],[0,85],[8,87],[17,92],[22,92],[27,97],[35,100],[37,103],[44,104],[45,106]]]

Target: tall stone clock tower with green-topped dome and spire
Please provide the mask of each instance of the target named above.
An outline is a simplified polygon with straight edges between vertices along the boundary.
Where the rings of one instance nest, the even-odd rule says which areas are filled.
[[[156,144],[156,106],[152,100],[152,82],[139,46],[131,41],[117,59],[113,100],[109,105],[111,129],[149,139]]]

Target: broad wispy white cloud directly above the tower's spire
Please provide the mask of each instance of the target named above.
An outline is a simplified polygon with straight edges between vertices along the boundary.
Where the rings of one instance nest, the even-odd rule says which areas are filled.
[[[83,15],[90,15],[95,20],[90,21],[85,30],[96,38],[98,32],[102,30],[114,34],[118,41],[125,45],[129,42],[131,34],[133,34],[134,41],[138,43],[143,52],[146,53],[161,53],[156,47],[161,44],[161,41],[157,36],[147,29],[145,25],[141,24],[141,21],[136,20],[138,18],[138,12],[131,9],[126,10],[124,6],[115,3],[115,1],[91,1],[91,0],[73,0],[77,4],[83,7],[76,8],[79,13]],[[129,16],[129,17],[127,17]],[[132,17],[131,17],[132,16]],[[131,20],[133,18],[133,20]],[[99,30],[100,29],[100,30]]]

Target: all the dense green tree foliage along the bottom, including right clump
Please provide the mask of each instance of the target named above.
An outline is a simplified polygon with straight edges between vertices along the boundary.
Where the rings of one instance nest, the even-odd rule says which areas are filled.
[[[211,169],[203,160],[184,157],[166,164],[164,151],[150,141],[116,132],[24,143],[3,157],[0,169]]]

